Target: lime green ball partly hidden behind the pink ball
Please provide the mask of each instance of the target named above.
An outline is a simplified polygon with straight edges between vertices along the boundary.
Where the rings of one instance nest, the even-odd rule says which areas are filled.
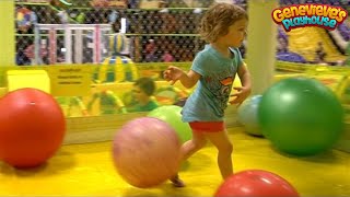
[[[176,105],[164,105],[151,111],[148,116],[162,119],[175,129],[180,142],[184,143],[192,137],[188,123],[182,120],[182,107]]]

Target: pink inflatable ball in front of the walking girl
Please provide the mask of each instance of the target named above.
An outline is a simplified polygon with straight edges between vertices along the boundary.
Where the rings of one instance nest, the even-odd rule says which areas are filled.
[[[177,135],[168,124],[142,117],[117,131],[113,161],[119,175],[130,185],[153,187],[177,173],[179,148]]]

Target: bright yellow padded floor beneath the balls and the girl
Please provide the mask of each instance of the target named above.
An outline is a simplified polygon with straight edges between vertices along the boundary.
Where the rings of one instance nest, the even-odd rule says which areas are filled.
[[[230,128],[234,142],[234,169],[267,170],[288,179],[302,196],[350,196],[350,154],[327,153],[294,158],[283,155],[264,138],[250,137],[242,128]],[[207,146],[186,163],[180,176],[185,188],[164,183],[151,189],[126,184],[116,173],[112,142],[63,146],[47,164],[15,170],[0,163],[0,196],[212,196],[221,183],[215,149]]]

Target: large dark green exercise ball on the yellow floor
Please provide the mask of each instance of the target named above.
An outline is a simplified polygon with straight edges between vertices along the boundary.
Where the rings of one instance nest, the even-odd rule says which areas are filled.
[[[330,149],[343,131],[343,108],[334,92],[308,78],[284,79],[262,95],[261,131],[280,151],[312,155]]]

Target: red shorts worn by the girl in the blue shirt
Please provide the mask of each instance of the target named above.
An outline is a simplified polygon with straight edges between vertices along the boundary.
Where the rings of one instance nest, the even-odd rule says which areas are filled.
[[[225,130],[224,121],[191,121],[188,124],[196,132],[220,132]]]

